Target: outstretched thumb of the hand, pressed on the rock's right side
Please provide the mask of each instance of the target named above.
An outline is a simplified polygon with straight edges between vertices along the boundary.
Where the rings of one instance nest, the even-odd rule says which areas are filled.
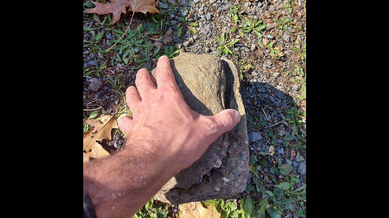
[[[240,117],[240,112],[233,109],[225,109],[212,116],[217,124],[216,130],[220,131],[220,135],[232,130],[239,123]]]

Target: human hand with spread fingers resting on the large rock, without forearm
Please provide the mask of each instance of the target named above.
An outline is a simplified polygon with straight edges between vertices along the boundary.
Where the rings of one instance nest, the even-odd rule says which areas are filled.
[[[130,151],[142,151],[156,165],[169,168],[173,175],[191,166],[221,134],[240,121],[240,113],[226,109],[203,116],[185,102],[174,78],[170,61],[161,56],[156,69],[156,88],[147,69],[137,72],[135,84],[126,91],[133,113],[119,119],[128,137]]]

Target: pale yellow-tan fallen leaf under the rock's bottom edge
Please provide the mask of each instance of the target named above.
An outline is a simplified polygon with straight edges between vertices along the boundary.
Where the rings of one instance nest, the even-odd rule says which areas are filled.
[[[190,202],[179,205],[179,217],[180,218],[220,218],[221,213],[217,212],[215,204],[212,203],[207,209],[205,209],[201,202]]]

